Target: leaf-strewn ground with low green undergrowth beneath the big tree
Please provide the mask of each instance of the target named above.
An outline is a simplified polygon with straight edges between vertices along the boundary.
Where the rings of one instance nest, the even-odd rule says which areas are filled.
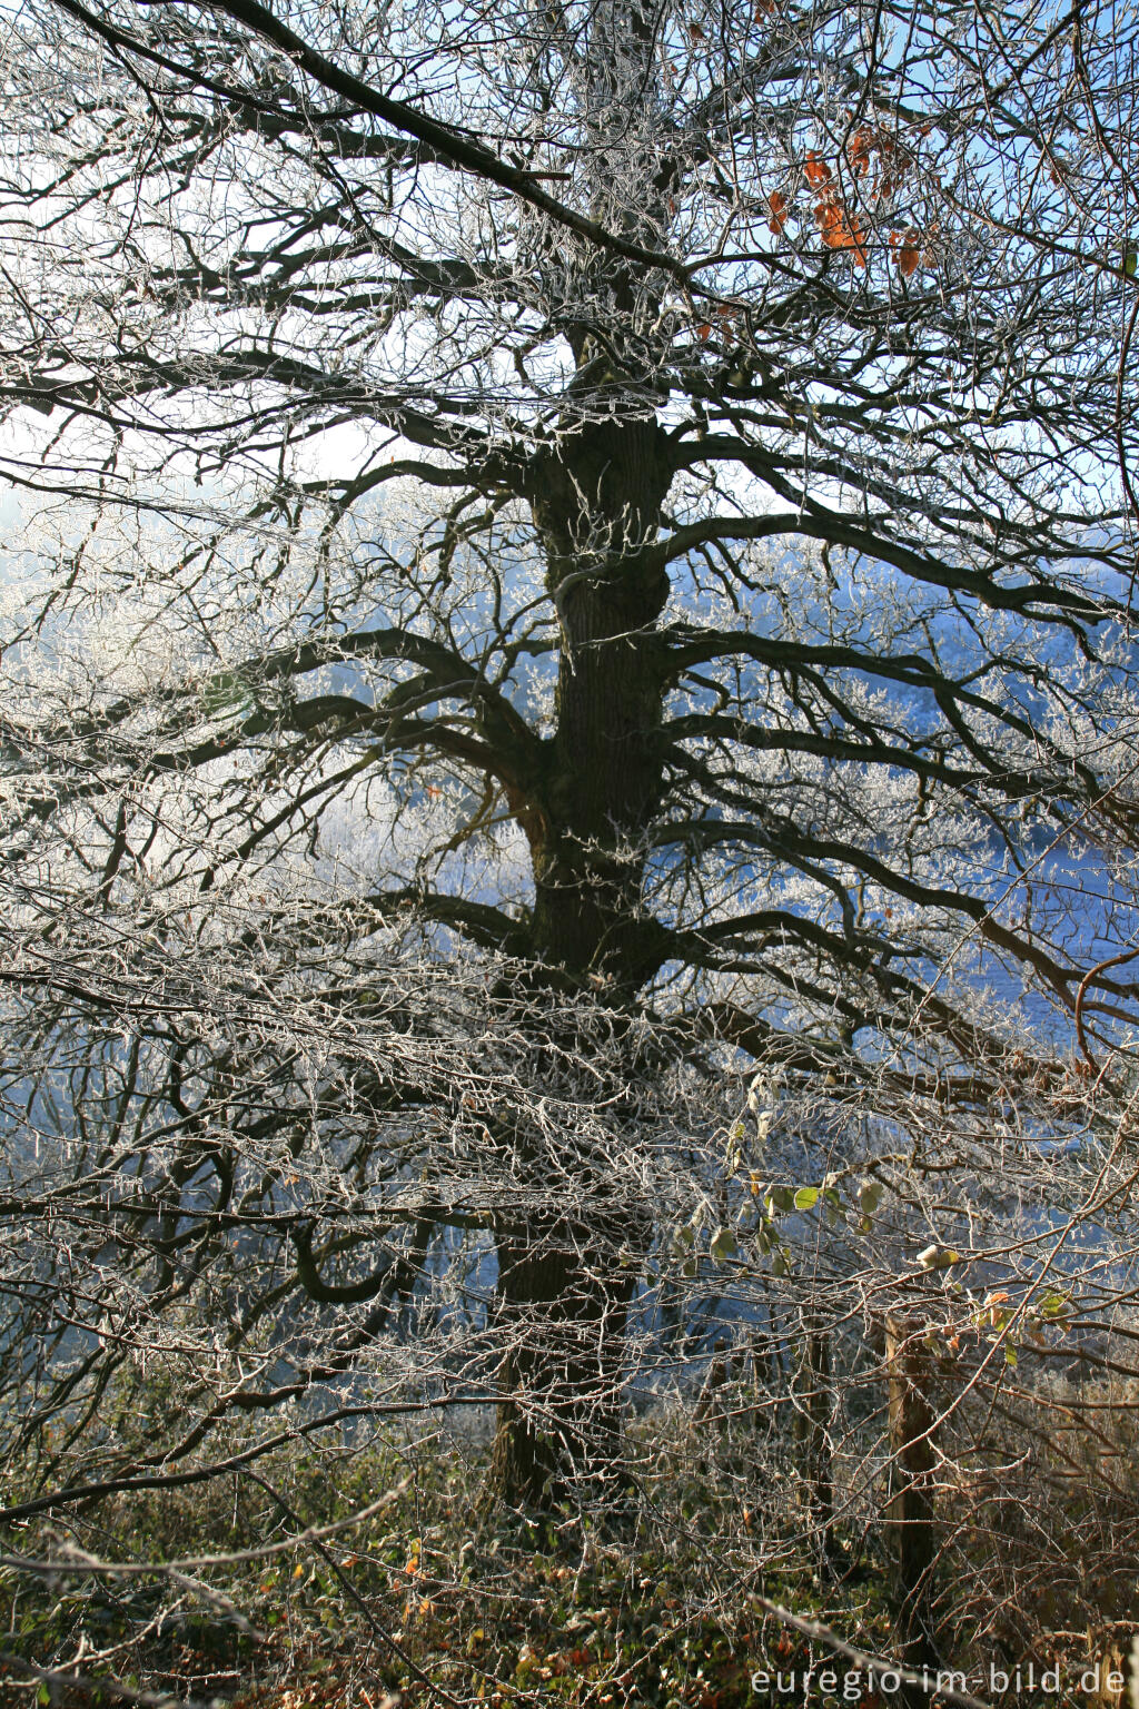
[[[82,1548],[155,1567],[39,1581],[0,1567],[0,1653],[10,1658],[0,1704],[905,1704],[897,1682],[774,1612],[871,1656],[898,1654],[886,1562],[854,1536],[815,1557],[794,1480],[768,1477],[767,1509],[751,1511],[741,1465],[692,1453],[681,1434],[616,1511],[534,1519],[482,1506],[483,1459],[439,1441],[294,1448],[258,1461],[254,1477],[116,1497],[22,1531],[26,1559]],[[20,1661],[68,1673],[77,1656],[97,1688],[20,1677]],[[1004,1694],[1002,1706],[1013,1702],[1064,1709],[1066,1697]]]

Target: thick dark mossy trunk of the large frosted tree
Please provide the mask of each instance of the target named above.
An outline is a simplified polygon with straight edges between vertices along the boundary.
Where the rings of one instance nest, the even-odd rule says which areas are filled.
[[[666,436],[651,414],[570,431],[533,470],[533,514],[560,624],[557,730],[543,807],[526,824],[543,962],[536,986],[545,983],[552,1013],[569,988],[596,991],[615,1017],[656,971],[640,894],[663,778],[656,624],[668,578],[652,540],[669,479]],[[572,1027],[550,1051],[553,1077],[564,1072],[558,1058],[591,1049]],[[630,1060],[613,1075],[611,1131],[640,1072]],[[635,1121],[635,1109],[628,1116]],[[611,1181],[596,1133],[567,1133],[557,1159],[562,1205],[548,1208],[541,1147],[529,1155],[517,1135],[512,1150],[538,1208],[497,1234],[497,1323],[507,1348],[488,1492],[545,1507],[616,1475],[625,1319],[651,1219],[627,1203],[577,1215],[605,1205]],[[575,1205],[567,1208],[569,1195]]]

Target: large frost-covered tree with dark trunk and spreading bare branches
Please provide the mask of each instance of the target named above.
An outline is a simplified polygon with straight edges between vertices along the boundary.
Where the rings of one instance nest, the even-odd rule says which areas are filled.
[[[692,1183],[765,1166],[756,1068],[830,1152],[914,1099],[1031,1136],[1062,1041],[1009,995],[1127,1022],[1078,954],[1127,901],[1054,882],[1130,813],[1127,27],[10,17],[44,1477],[367,1377],[494,1389],[492,1490],[548,1501],[618,1463]],[[188,1417],[128,1449],[143,1348]]]

